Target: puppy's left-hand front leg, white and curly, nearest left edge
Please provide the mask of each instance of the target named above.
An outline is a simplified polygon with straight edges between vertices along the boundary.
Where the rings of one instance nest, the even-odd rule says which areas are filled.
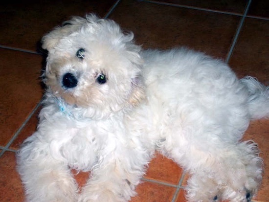
[[[17,170],[27,202],[77,202],[77,184],[64,161],[50,156],[49,148],[28,138],[17,153]]]

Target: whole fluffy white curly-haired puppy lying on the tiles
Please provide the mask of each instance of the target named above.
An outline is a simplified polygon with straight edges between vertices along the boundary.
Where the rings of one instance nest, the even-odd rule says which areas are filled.
[[[75,17],[45,35],[40,122],[18,151],[28,202],[127,202],[158,151],[187,172],[189,202],[249,202],[262,159],[241,142],[269,117],[269,88],[185,48],[141,50],[111,20]],[[78,190],[70,169],[90,171]]]

